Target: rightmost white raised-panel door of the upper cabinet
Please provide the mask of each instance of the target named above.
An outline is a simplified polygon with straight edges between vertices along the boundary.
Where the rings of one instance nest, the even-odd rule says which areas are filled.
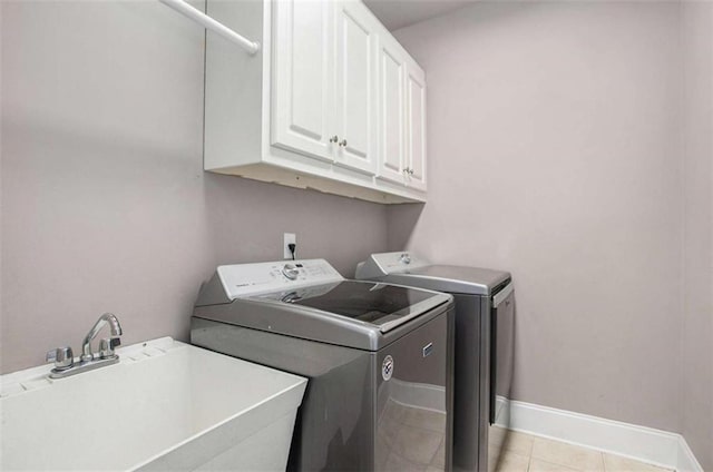
[[[406,79],[409,187],[426,191],[426,75],[409,65]]]

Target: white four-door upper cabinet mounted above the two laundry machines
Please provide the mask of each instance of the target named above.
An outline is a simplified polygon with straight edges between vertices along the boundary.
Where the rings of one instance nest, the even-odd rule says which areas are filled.
[[[424,73],[361,0],[207,0],[262,49],[206,37],[206,170],[426,200]]]

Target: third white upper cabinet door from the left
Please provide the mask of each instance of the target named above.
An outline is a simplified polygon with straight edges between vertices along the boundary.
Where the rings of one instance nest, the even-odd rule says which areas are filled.
[[[379,60],[379,178],[404,183],[406,62],[395,40],[383,37]]]

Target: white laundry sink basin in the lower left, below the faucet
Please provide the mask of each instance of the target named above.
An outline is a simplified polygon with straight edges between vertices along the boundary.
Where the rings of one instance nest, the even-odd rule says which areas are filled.
[[[0,376],[0,470],[284,470],[306,380],[170,337]]]

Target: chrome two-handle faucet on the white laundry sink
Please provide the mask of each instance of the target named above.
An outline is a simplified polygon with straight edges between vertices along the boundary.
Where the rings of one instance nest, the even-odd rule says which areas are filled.
[[[98,355],[91,352],[91,341],[97,337],[97,334],[105,325],[109,325],[109,337],[105,337],[99,342]],[[50,372],[50,378],[62,378],[70,375],[79,374],[81,372],[94,371],[95,368],[104,367],[106,365],[116,364],[119,362],[119,356],[114,350],[121,344],[121,324],[119,319],[111,313],[105,313],[99,316],[99,319],[91,326],[89,333],[85,336],[85,341],[81,343],[81,356],[80,362],[75,364],[75,357],[71,352],[71,347],[58,347],[47,353],[47,362],[53,362],[55,368]]]

